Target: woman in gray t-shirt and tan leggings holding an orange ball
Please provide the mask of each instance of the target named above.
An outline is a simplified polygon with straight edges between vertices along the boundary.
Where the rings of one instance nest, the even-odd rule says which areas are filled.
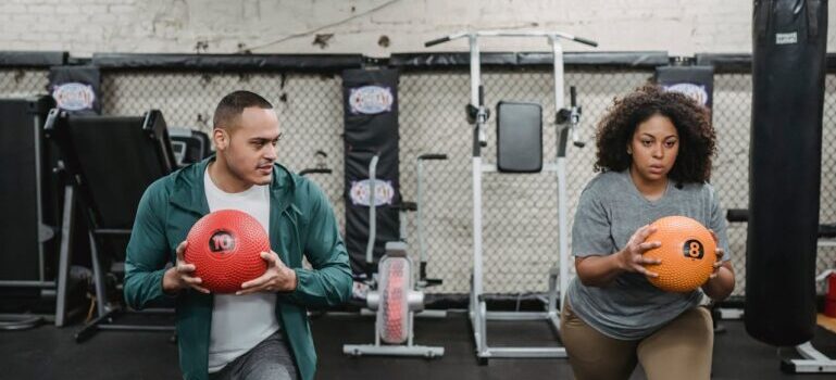
[[[715,135],[708,110],[656,86],[637,89],[598,126],[596,176],[575,213],[572,251],[577,276],[566,292],[561,338],[579,380],[627,379],[641,364],[648,379],[708,379],[711,315],[703,294],[734,290],[725,220],[708,183]],[[718,262],[701,289],[671,293],[653,287],[644,257],[648,225],[684,215],[714,232]]]

